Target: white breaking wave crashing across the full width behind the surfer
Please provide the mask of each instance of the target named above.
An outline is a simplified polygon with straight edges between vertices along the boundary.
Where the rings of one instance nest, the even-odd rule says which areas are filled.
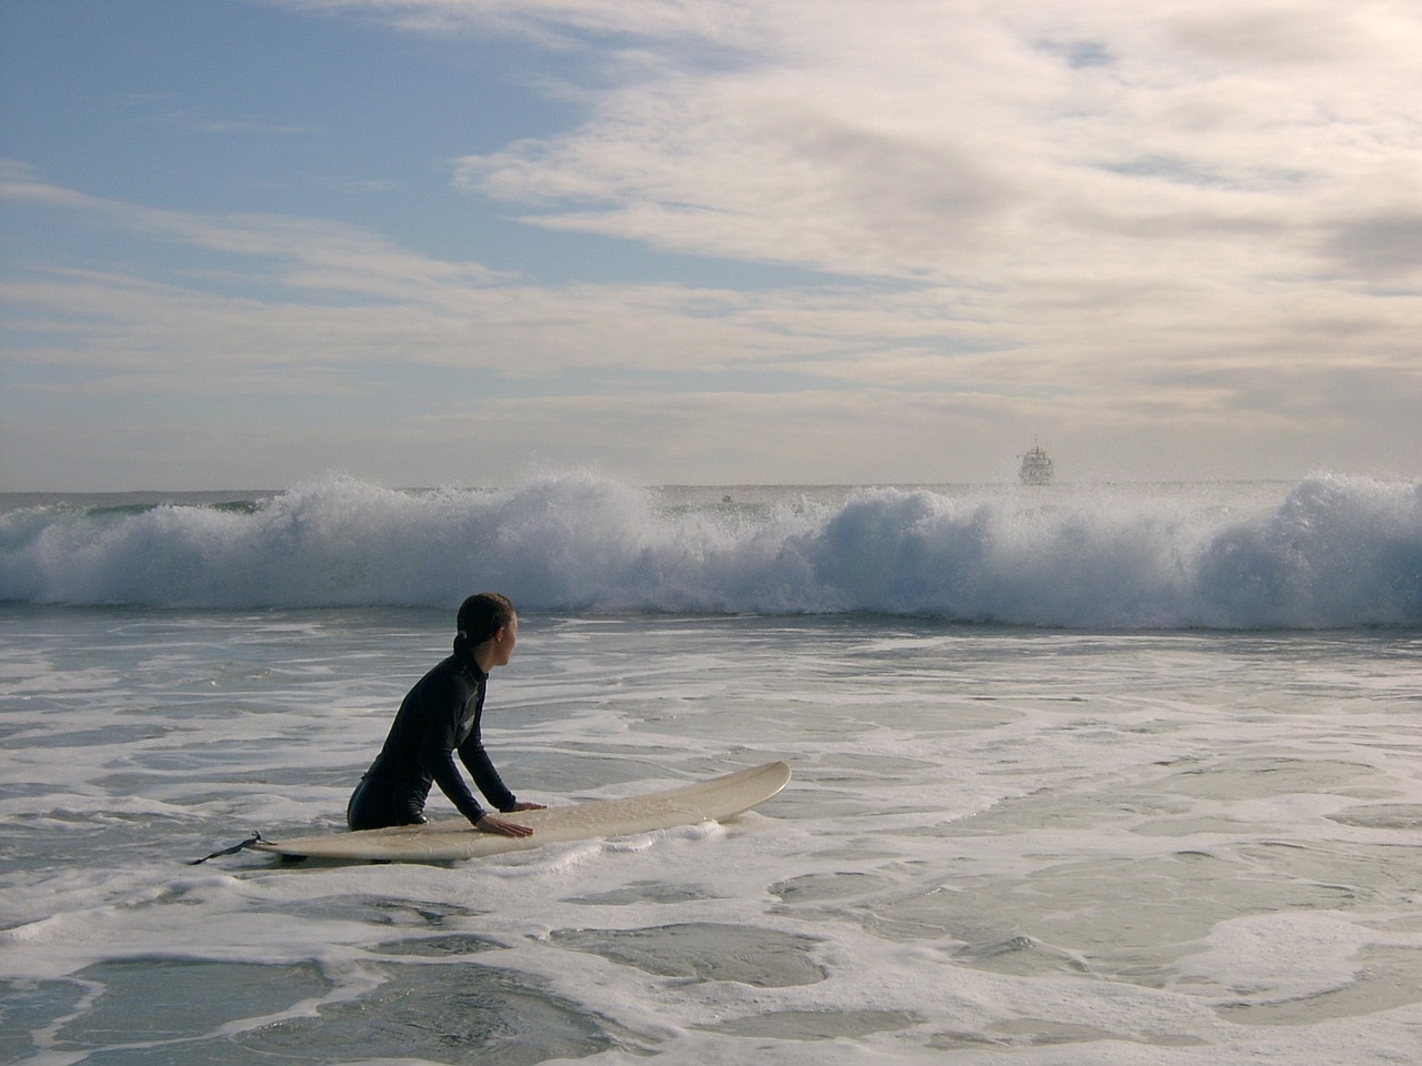
[[[331,479],[0,516],[0,600],[182,608],[880,613],[1074,628],[1422,624],[1422,485],[496,492]],[[742,499],[749,495],[751,502]]]

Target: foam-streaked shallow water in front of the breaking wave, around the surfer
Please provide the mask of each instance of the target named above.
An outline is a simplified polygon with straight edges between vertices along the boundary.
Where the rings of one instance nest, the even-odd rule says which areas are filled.
[[[448,866],[340,824],[447,611],[0,608],[9,1062],[1406,1062],[1415,632],[529,613],[486,741],[727,826]],[[435,799],[437,813],[452,813]]]

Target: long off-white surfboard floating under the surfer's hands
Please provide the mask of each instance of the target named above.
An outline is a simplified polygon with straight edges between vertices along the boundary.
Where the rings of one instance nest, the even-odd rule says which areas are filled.
[[[724,777],[665,792],[650,792],[620,800],[573,803],[546,810],[503,814],[533,830],[530,837],[483,833],[464,819],[429,822],[424,826],[364,829],[293,840],[256,840],[252,847],[293,858],[353,858],[374,861],[431,863],[481,858],[505,851],[523,851],[566,840],[594,840],[651,833],[657,829],[721,822],[749,810],[785,787],[791,768],[769,762]]]

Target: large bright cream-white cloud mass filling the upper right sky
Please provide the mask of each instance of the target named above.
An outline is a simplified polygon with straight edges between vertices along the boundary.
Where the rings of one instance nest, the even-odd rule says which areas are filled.
[[[458,181],[532,225],[845,276],[1030,286],[1051,260],[1247,284],[1315,270],[1313,235],[1422,159],[1402,102],[1422,21],[1399,4],[782,0],[757,18],[742,63],[629,68],[579,128],[466,156]]]

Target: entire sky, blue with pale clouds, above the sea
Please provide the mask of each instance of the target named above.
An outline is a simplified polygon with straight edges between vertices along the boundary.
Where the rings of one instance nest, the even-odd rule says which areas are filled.
[[[1415,0],[0,0],[0,492],[1422,478]]]

